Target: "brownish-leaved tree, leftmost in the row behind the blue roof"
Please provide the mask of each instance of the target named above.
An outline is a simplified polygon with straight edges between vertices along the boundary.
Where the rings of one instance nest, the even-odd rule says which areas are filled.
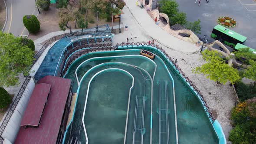
[[[77,8],[74,8],[77,9]],[[68,26],[69,21],[75,20],[75,15],[73,13],[73,8],[68,5],[67,8],[61,8],[59,10],[59,27],[61,30],[65,31],[66,28],[69,28],[69,33],[72,33],[72,27]]]

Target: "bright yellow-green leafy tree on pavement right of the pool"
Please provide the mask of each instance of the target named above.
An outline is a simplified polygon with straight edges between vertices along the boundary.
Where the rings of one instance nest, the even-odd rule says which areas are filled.
[[[203,59],[207,63],[194,69],[195,73],[203,73],[207,78],[225,84],[230,81],[232,84],[240,80],[238,70],[225,63],[220,53],[205,50],[202,52]]]

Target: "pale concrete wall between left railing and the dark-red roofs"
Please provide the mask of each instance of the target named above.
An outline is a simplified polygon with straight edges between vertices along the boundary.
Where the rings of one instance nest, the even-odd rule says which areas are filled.
[[[2,137],[5,139],[6,142],[10,141],[14,144],[16,136],[20,129],[20,122],[24,111],[26,110],[26,106],[30,99],[30,96],[35,88],[35,81],[33,78],[30,79],[30,82],[26,86],[23,95],[20,98],[18,105],[16,106],[13,115],[10,118],[5,130],[3,131]],[[7,141],[8,140],[8,141]],[[6,143],[8,144],[8,143]]]

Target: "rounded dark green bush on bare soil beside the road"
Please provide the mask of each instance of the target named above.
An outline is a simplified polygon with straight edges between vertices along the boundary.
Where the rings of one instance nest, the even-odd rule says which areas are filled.
[[[24,16],[23,24],[30,33],[38,33],[40,30],[40,22],[34,15]]]

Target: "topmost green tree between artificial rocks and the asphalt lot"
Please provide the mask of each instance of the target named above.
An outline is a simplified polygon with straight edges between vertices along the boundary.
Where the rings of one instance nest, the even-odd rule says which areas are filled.
[[[159,4],[161,13],[167,14],[169,19],[179,13],[179,4],[176,2],[176,0],[161,0]]]

